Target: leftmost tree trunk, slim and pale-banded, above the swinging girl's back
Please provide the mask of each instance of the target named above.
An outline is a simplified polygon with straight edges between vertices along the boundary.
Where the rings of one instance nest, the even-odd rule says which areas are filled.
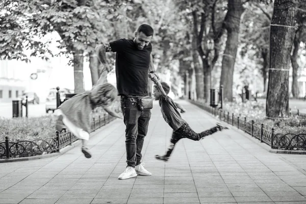
[[[84,92],[83,52],[83,50],[75,50],[73,54],[74,93]]]

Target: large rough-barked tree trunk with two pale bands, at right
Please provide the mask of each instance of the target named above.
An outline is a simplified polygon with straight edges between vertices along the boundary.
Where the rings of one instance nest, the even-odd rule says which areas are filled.
[[[268,118],[289,115],[289,63],[295,33],[297,0],[275,0],[270,29],[270,70],[266,114]]]

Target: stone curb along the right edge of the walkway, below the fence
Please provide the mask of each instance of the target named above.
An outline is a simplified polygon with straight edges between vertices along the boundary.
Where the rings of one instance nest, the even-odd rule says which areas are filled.
[[[190,103],[190,101],[188,101]],[[192,104],[192,103],[190,103]],[[209,116],[211,116],[212,118],[218,120],[218,121],[221,121],[221,122],[224,122],[220,119],[217,119],[215,115],[211,114],[210,112],[207,112],[206,110],[202,109],[201,107],[195,105],[195,104],[192,104],[198,108],[200,108],[201,110],[205,111]],[[264,143],[264,142],[260,142],[259,139],[255,138],[255,137],[252,137],[251,135],[245,133],[243,130],[240,130],[238,129],[236,126],[233,126],[232,124],[230,123],[226,123],[224,122],[224,124],[226,124],[227,126],[231,126],[231,129],[232,130],[235,130],[236,132],[239,132],[241,133],[241,135],[243,135],[244,137],[248,138],[249,140],[252,140],[254,143],[258,144],[259,146],[261,146],[262,148],[264,148],[265,150],[271,152],[271,153],[274,153],[274,154],[288,154],[288,155],[306,155],[306,151],[303,151],[303,150],[282,150],[282,149],[272,149],[270,147],[270,145]],[[243,134],[242,134],[243,133]]]

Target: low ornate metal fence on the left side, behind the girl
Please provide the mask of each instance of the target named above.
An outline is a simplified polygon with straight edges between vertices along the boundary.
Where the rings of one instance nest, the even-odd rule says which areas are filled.
[[[113,121],[114,119],[115,118],[109,114],[92,118],[92,132]],[[18,142],[10,142],[9,137],[5,137],[5,142],[0,143],[0,159],[31,157],[59,152],[62,148],[71,145],[77,140],[77,137],[65,130],[62,132],[56,131],[55,137],[35,139],[32,141],[23,140]]]

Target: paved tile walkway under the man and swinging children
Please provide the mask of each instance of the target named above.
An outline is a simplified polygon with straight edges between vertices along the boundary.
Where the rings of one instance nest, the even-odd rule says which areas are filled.
[[[217,121],[179,103],[197,132]],[[152,176],[117,179],[125,169],[122,121],[94,134],[91,159],[77,147],[59,157],[1,163],[0,203],[306,203],[306,157],[270,153],[236,130],[183,139],[168,163],[155,160],[171,136],[157,103],[143,147]]]

